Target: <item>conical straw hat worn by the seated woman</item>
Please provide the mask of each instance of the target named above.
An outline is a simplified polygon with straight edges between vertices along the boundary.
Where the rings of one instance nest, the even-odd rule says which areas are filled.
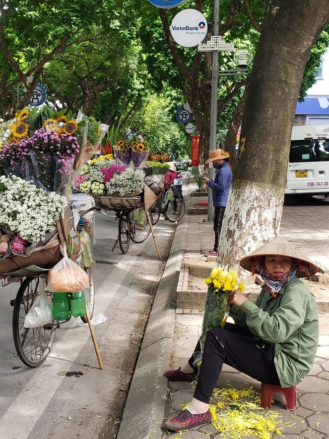
[[[256,257],[267,255],[282,255],[298,259],[301,262],[301,265],[305,265],[308,268],[310,275],[315,274],[318,271],[318,267],[307,256],[305,256],[303,252],[282,236],[272,239],[250,255],[242,258],[240,265],[245,270],[252,271],[252,264],[257,262]],[[307,272],[305,271],[305,268],[301,266],[300,268],[297,268],[296,275],[298,277],[305,277]]]

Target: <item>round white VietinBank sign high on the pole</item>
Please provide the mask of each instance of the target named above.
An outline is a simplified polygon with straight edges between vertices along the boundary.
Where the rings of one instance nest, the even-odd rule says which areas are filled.
[[[185,9],[173,19],[171,35],[180,46],[194,47],[201,43],[207,34],[207,22],[201,12]]]

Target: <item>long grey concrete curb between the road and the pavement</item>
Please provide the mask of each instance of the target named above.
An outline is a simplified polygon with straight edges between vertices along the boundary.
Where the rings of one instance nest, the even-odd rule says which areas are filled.
[[[162,422],[166,401],[162,395],[167,395],[168,380],[163,373],[173,346],[176,288],[186,247],[189,196],[185,203],[187,211],[177,225],[155,295],[116,439],[160,439],[164,435]]]

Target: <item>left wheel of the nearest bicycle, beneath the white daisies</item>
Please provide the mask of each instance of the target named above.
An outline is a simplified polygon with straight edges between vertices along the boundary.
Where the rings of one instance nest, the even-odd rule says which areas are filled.
[[[27,277],[16,295],[12,314],[12,333],[19,358],[29,367],[37,367],[47,358],[54,342],[57,323],[38,328],[24,328],[25,316],[33,305],[39,288],[39,277]],[[48,293],[52,297],[51,293]]]

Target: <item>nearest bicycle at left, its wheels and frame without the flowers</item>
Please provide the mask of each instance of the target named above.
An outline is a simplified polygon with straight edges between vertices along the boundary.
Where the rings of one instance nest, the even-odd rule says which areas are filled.
[[[85,215],[90,210],[100,211],[97,207],[92,207],[82,212],[80,216]],[[86,308],[91,319],[95,304],[94,276],[91,267],[85,268],[85,270],[89,276],[89,287],[84,290],[84,296]],[[10,276],[10,273],[8,273],[8,276]],[[54,319],[47,325],[37,328],[24,328],[25,316],[34,304],[36,297],[44,290],[47,276],[47,269],[43,269],[41,272],[25,274],[25,279],[21,280],[16,298],[10,301],[10,305],[14,307],[12,332],[15,348],[21,361],[29,367],[38,367],[45,361],[54,343],[56,330],[71,318],[69,310],[69,317],[65,321],[59,322]],[[45,290],[47,291],[47,287]],[[53,293],[50,291],[47,291],[47,293],[48,297],[53,300]],[[88,323],[86,316],[81,317],[81,320],[84,323]]]

